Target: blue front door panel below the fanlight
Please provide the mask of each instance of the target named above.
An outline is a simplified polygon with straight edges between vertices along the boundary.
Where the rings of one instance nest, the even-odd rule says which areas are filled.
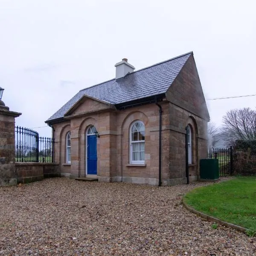
[[[97,139],[96,135],[87,136],[87,174],[97,174]]]

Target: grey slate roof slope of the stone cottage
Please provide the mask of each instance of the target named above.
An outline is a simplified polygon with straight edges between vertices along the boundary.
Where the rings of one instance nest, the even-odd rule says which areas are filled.
[[[193,52],[134,71],[124,78],[112,79],[80,90],[46,122],[60,119],[81,99],[90,96],[112,104],[130,102],[166,93],[181,68]]]

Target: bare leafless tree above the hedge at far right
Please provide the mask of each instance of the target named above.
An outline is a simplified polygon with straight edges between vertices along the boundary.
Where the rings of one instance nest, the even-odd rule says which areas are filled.
[[[228,145],[236,140],[256,140],[256,111],[250,108],[228,111],[223,116],[222,133]]]

